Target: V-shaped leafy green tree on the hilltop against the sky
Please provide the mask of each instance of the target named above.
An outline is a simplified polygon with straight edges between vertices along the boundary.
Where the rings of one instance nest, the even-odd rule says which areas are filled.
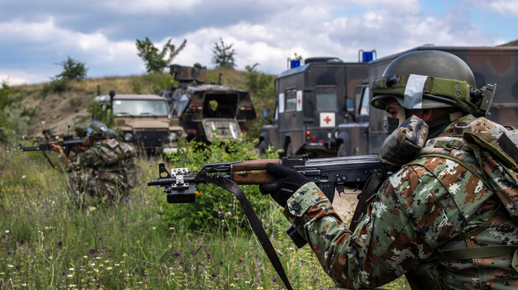
[[[162,48],[162,51],[159,52],[158,48],[156,48],[147,37],[144,40],[137,39],[138,56],[146,63],[147,72],[162,72],[166,66],[171,64],[171,61],[173,61],[178,53],[184,49],[185,43],[187,42],[187,40],[184,39],[184,42],[176,49],[175,45],[171,44],[171,40],[172,39],[169,39],[164,48]],[[164,59],[166,55],[167,58]]]

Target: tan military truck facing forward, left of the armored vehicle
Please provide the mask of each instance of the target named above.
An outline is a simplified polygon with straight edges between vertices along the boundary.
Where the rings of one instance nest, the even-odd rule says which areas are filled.
[[[95,97],[104,110],[111,108],[115,127],[124,141],[135,144],[148,154],[173,153],[184,130],[178,119],[171,118],[164,97],[157,95],[109,95]]]

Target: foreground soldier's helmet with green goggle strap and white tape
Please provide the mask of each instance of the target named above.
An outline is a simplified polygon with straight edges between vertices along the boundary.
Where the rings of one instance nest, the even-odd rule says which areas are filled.
[[[374,108],[385,110],[387,97],[407,109],[457,107],[473,114],[482,99],[468,64],[450,52],[421,50],[401,55],[372,84]]]

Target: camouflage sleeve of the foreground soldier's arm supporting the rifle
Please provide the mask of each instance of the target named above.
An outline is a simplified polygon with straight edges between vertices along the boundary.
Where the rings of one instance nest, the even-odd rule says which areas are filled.
[[[441,205],[447,196],[430,171],[408,166],[384,182],[354,233],[313,182],[289,198],[284,214],[336,284],[378,287],[413,269],[451,237],[455,229]]]

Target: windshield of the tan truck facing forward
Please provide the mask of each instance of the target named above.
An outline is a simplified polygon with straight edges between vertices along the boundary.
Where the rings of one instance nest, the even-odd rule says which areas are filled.
[[[113,101],[113,115],[124,116],[167,116],[167,103],[153,99],[117,99]]]

